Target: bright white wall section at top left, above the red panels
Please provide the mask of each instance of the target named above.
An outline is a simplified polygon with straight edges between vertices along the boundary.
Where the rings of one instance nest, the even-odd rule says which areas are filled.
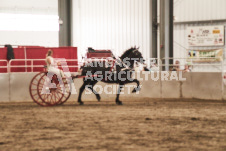
[[[41,46],[59,46],[58,31],[48,31],[50,24],[49,19],[41,16],[38,20],[30,18],[26,20],[31,30],[5,30],[3,24],[12,21],[15,24],[15,19],[5,18],[4,14],[23,14],[23,15],[53,15],[58,16],[58,0],[0,0],[0,45],[12,44],[12,45],[41,45]],[[17,22],[17,21],[16,21]],[[20,25],[20,21],[16,26]],[[55,19],[54,26],[58,26],[58,19]],[[32,25],[33,24],[33,25]],[[36,31],[36,26],[47,27],[47,30]],[[13,25],[12,25],[13,26]],[[33,27],[31,27],[33,26]],[[21,27],[22,28],[22,27]],[[32,31],[32,28],[34,29]],[[38,27],[37,27],[38,28]]]

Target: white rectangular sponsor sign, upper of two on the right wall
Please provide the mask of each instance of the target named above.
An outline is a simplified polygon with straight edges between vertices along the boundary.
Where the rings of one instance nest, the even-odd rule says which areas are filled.
[[[224,26],[188,27],[189,46],[223,46]]]

